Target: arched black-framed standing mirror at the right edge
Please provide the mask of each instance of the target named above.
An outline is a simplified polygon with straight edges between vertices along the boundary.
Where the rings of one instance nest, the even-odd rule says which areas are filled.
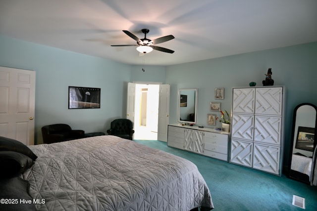
[[[317,107],[302,103],[294,109],[289,176],[307,184],[316,184]]]

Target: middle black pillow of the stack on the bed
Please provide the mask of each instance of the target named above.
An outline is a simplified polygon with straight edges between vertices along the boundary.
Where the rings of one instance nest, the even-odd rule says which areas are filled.
[[[34,161],[19,152],[0,151],[0,178],[10,178],[23,173]]]

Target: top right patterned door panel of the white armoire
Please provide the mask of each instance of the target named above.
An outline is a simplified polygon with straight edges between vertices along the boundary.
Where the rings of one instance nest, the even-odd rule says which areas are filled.
[[[256,114],[282,114],[282,87],[256,89]]]

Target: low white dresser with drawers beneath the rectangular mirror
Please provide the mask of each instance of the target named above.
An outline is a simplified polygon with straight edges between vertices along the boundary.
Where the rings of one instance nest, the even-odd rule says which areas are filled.
[[[213,128],[168,125],[167,146],[228,162],[229,133]]]

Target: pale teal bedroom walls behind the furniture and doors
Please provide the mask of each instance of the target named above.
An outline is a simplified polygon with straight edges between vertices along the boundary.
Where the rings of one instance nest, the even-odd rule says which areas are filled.
[[[287,161],[293,109],[303,102],[317,105],[317,42],[166,67],[143,67],[0,36],[0,66],[36,71],[36,143],[42,143],[41,127],[54,123],[86,132],[106,132],[113,119],[125,116],[126,84],[133,81],[171,85],[170,123],[177,123],[178,89],[198,88],[197,124],[208,127],[207,114],[219,114],[210,111],[210,102],[221,102],[221,109],[230,111],[232,87],[248,86],[252,81],[262,86],[264,74],[272,68],[274,85],[286,87]],[[101,88],[101,108],[69,110],[70,85]],[[224,87],[224,100],[214,99],[216,87]]]

